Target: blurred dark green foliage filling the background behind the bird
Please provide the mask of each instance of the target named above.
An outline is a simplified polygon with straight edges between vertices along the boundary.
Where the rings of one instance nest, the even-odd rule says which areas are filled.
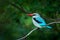
[[[47,23],[60,18],[60,0],[0,0],[0,40],[17,40],[35,28],[31,17],[16,6],[40,13]],[[38,29],[26,40],[60,40],[60,24],[50,26],[51,30]]]

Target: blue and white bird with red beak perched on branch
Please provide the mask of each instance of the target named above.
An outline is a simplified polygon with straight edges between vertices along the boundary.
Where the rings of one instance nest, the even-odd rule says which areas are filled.
[[[39,28],[52,28],[50,26],[46,26],[45,20],[38,14],[38,13],[33,13],[33,14],[28,14],[29,16],[32,16],[32,22],[36,27]]]

